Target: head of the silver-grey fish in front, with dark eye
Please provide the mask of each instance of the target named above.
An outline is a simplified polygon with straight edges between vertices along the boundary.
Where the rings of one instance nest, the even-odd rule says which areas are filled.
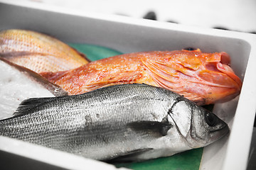
[[[227,123],[217,115],[188,100],[174,103],[169,115],[191,148],[205,147],[230,132]]]

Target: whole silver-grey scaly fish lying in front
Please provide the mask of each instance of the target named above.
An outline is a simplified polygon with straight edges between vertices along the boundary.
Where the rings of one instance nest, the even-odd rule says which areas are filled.
[[[0,135],[104,162],[140,162],[205,147],[228,134],[214,113],[167,89],[118,84],[29,98]]]

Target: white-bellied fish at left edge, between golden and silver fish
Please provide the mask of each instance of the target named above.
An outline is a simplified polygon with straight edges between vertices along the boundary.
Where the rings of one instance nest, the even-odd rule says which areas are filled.
[[[1,57],[0,72],[0,119],[12,117],[25,99],[68,95],[60,86],[36,72]]]

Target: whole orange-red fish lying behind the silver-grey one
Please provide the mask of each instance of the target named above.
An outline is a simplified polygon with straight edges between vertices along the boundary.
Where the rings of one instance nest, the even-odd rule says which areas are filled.
[[[201,106],[230,101],[242,87],[228,53],[200,49],[133,52],[40,74],[69,95],[114,84],[144,83],[174,91]]]

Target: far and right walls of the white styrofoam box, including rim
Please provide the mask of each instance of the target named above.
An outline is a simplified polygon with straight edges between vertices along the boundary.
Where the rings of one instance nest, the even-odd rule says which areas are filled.
[[[256,110],[255,35],[87,13],[46,4],[2,1],[0,30],[11,28],[35,30],[64,42],[102,45],[124,53],[185,47],[198,47],[203,52],[228,52],[231,67],[243,81],[242,91],[232,101],[215,104],[213,112],[228,123],[231,131],[228,137],[203,149],[200,168],[246,169]],[[0,140],[1,150],[3,140]],[[40,161],[40,157],[36,159]]]

